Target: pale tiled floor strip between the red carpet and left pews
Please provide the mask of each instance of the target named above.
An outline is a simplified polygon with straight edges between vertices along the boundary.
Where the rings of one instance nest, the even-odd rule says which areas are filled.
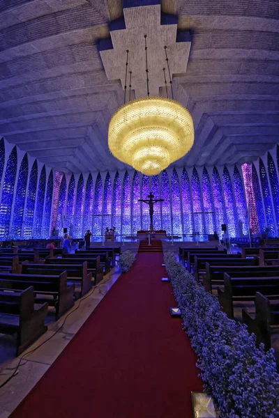
[[[27,396],[32,387],[36,385],[36,382],[40,380],[54,360],[67,346],[69,341],[75,336],[77,331],[80,330],[80,327],[82,327],[107,291],[110,290],[119,275],[119,268],[114,268],[114,270],[112,270],[110,274],[107,274],[104,280],[101,281],[96,288],[92,288],[92,291],[95,289],[93,293],[91,291],[82,299],[77,300],[73,309],[60,318],[59,321],[50,323],[47,332],[43,334],[33,346],[30,346],[26,352],[24,352],[29,353],[29,351],[40,346],[43,341],[51,338],[50,341],[44,343],[43,346],[36,351],[24,356],[17,375],[0,389],[0,418],[7,418],[22,399]],[[71,311],[73,311],[73,314],[68,316]],[[61,330],[54,335],[63,324],[66,316],[68,316],[66,323]],[[1,356],[0,385],[13,374],[13,371],[20,361],[20,357],[11,359],[11,356],[14,355],[13,340],[10,339],[7,341],[9,341],[8,346],[6,346],[6,351],[4,351]]]

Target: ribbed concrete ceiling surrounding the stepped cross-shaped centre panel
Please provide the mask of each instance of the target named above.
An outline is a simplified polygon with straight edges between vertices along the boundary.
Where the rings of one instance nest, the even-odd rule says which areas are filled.
[[[124,0],[139,3],[156,0]],[[195,145],[174,165],[242,164],[279,143],[278,0],[161,6],[191,38],[173,85],[193,115]],[[122,15],[121,0],[0,0],[0,134],[59,171],[124,169],[107,147],[123,88],[98,52]]]

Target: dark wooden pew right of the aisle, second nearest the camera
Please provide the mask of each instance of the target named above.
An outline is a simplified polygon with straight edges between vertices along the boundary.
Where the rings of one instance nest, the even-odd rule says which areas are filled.
[[[256,293],[277,295],[279,277],[230,277],[224,274],[224,290],[218,287],[218,297],[229,318],[234,318],[234,302],[255,301]]]

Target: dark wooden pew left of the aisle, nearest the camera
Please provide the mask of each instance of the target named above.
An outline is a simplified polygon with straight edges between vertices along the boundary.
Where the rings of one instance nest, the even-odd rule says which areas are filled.
[[[33,286],[22,291],[0,288],[0,333],[17,333],[17,355],[47,331],[47,303],[34,305]]]

